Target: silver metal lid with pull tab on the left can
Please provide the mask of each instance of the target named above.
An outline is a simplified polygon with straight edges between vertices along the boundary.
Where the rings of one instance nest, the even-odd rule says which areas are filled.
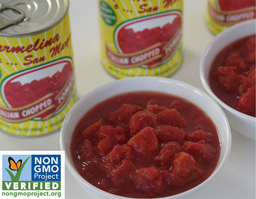
[[[1,0],[0,36],[26,37],[43,33],[56,26],[67,11],[68,0]]]

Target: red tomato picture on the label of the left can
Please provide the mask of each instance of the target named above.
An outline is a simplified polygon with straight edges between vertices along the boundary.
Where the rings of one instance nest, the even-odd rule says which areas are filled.
[[[23,70],[3,81],[3,99],[10,111],[19,111],[19,119],[48,119],[67,101],[73,88],[72,72],[68,58]]]

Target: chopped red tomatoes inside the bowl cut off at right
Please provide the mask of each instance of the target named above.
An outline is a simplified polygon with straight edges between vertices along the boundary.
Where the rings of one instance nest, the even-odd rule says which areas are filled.
[[[255,35],[218,53],[211,64],[209,84],[225,104],[255,117]]]

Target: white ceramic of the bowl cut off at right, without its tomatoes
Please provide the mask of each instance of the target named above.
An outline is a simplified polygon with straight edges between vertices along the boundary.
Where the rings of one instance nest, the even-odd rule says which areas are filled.
[[[230,125],[242,135],[253,140],[255,140],[255,117],[239,112],[221,101],[213,93],[213,91],[211,91],[208,77],[211,63],[213,62],[215,56],[223,48],[225,48],[228,44],[239,40],[242,37],[254,34],[255,19],[245,21],[243,23],[238,23],[235,26],[231,26],[230,28],[224,30],[219,35],[214,37],[214,39],[210,42],[207,49],[205,50],[200,62],[200,77],[202,84],[204,85],[204,88],[206,89],[208,94],[221,105],[225,114],[228,117]]]

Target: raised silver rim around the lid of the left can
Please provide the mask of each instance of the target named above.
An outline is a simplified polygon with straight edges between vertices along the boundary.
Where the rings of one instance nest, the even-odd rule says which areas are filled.
[[[67,1],[67,7],[64,10],[63,14],[61,15],[61,17],[56,20],[55,23],[49,24],[49,26],[46,26],[45,28],[42,28],[40,30],[35,30],[31,33],[18,33],[18,34],[8,34],[8,33],[1,33],[0,32],[0,37],[9,37],[9,38],[16,38],[16,37],[27,37],[27,36],[33,36],[33,35],[39,35],[41,33],[44,33],[47,30],[52,29],[54,26],[56,26],[57,24],[59,24],[61,22],[61,20],[66,16],[66,14],[68,13],[68,8],[69,8],[69,0]]]

